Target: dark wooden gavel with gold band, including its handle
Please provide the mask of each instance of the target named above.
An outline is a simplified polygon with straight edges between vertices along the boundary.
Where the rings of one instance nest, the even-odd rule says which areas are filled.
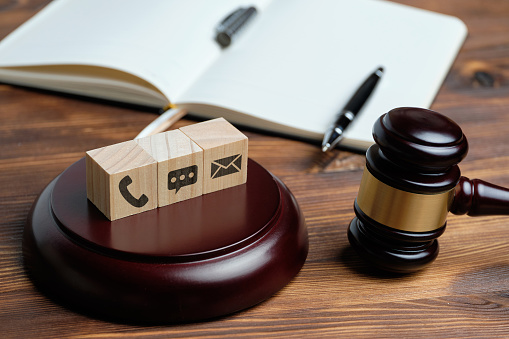
[[[451,119],[396,108],[375,122],[373,137],[348,240],[375,266],[411,273],[432,263],[449,212],[509,214],[508,189],[461,176],[468,142]]]

